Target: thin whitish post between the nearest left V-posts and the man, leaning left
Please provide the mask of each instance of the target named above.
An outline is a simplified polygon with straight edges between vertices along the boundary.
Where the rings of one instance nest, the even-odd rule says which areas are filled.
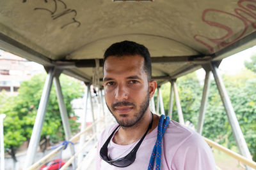
[[[83,115],[81,116],[81,132],[84,131],[84,129],[86,128],[86,115],[87,115],[87,104],[88,104],[88,98],[89,98],[89,93],[90,93],[90,85],[86,86],[86,92],[84,93],[84,98],[85,98],[85,102],[84,102],[84,110],[83,110]],[[84,145],[84,140],[85,140],[85,134],[81,134],[80,139],[79,139],[79,148],[82,148],[82,146]],[[81,152],[78,155],[78,160],[77,163],[80,164],[81,161],[83,160],[83,152]]]

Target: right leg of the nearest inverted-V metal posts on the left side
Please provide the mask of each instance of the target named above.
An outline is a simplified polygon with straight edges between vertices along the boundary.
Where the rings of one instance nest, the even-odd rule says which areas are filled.
[[[54,83],[54,87],[56,90],[56,96],[58,99],[58,106],[60,109],[61,121],[62,121],[63,129],[65,132],[65,140],[68,141],[69,139],[72,138],[72,133],[71,133],[71,129],[70,129],[70,124],[68,122],[67,108],[65,106],[63,94],[61,92],[60,72],[58,74],[56,73],[56,75],[54,76],[53,83]],[[69,146],[69,149],[70,149],[71,156],[74,155],[74,153],[75,153],[74,147]],[[73,162],[72,166],[75,166],[75,165],[76,165],[76,163]]]

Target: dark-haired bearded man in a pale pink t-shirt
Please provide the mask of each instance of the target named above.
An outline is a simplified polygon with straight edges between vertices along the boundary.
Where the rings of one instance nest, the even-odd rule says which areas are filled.
[[[118,124],[100,136],[97,170],[148,169],[159,124],[148,107],[157,87],[148,49],[132,41],[115,43],[104,53],[103,65],[106,104]],[[161,169],[215,169],[207,143],[177,122],[168,123],[161,147]]]

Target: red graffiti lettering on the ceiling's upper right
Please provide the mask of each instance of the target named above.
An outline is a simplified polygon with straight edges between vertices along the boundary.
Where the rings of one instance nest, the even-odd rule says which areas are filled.
[[[237,5],[240,8],[235,8],[234,12],[236,14],[228,13],[226,11],[221,10],[215,10],[215,9],[206,9],[202,13],[202,20],[203,22],[207,23],[208,25],[211,25],[212,27],[218,27],[220,29],[224,29],[227,31],[227,34],[222,36],[221,38],[209,38],[202,35],[195,35],[194,38],[199,43],[202,43],[202,45],[207,46],[211,53],[214,52],[214,46],[211,45],[211,43],[214,43],[220,48],[220,46],[227,46],[235,41],[241,39],[244,36],[244,33],[248,29],[249,25],[252,25],[254,29],[256,29],[256,0],[239,0],[237,2]],[[207,20],[206,15],[210,12],[214,13],[221,13],[224,15],[228,15],[228,17],[236,18],[238,20],[241,20],[241,23],[243,23],[243,30],[241,32],[234,32],[232,28],[225,24],[220,24],[219,22]]]

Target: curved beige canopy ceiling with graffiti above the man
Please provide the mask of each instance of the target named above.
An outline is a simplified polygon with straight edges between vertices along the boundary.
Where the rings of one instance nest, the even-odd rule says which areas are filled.
[[[3,50],[86,82],[109,45],[136,41],[164,80],[256,45],[256,1],[1,0],[0,31]]]

